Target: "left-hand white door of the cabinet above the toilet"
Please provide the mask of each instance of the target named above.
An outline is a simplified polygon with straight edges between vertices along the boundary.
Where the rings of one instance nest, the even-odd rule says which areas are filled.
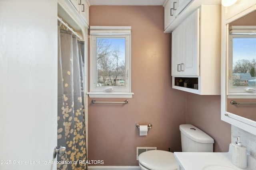
[[[172,31],[172,76],[180,76],[182,63],[182,25]]]

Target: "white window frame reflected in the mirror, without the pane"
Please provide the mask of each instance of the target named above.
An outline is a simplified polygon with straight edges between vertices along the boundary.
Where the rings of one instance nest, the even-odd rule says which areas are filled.
[[[248,33],[233,33],[228,38],[228,63],[227,63],[227,88],[228,98],[255,98],[256,87],[233,87],[233,37],[256,37],[256,35],[248,35]],[[251,89],[251,92],[250,90]],[[255,90],[255,91],[254,91]]]

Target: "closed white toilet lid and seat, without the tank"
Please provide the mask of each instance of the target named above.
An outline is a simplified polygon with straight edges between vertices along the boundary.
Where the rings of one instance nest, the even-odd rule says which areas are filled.
[[[173,152],[149,150],[139,155],[139,163],[150,170],[177,170],[178,163]]]

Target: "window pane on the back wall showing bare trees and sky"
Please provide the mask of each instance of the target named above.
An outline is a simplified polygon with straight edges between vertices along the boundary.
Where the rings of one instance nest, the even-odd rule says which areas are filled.
[[[97,38],[97,86],[125,86],[125,38]]]

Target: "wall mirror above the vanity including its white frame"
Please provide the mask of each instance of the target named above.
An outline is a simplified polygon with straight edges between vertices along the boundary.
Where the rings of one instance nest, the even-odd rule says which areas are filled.
[[[222,120],[256,135],[256,8],[225,18]],[[225,8],[225,7],[222,7]],[[231,7],[232,8],[232,7]],[[223,19],[222,19],[223,20]],[[222,28],[223,29],[223,28]],[[223,31],[222,31],[223,32]],[[225,64],[223,64],[225,63]],[[224,83],[223,83],[224,81]]]

